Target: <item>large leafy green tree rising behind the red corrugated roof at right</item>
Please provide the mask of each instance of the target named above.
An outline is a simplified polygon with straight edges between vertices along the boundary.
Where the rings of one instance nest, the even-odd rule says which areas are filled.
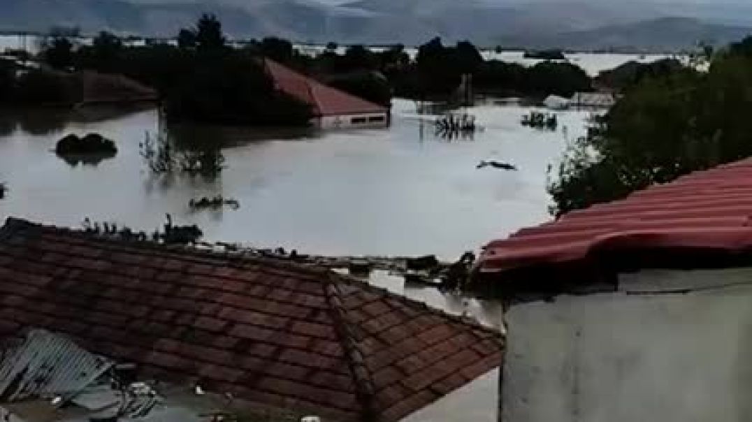
[[[564,214],[650,184],[752,156],[752,38],[707,73],[663,68],[626,90],[572,147],[549,191]],[[673,69],[673,70],[672,70]]]

